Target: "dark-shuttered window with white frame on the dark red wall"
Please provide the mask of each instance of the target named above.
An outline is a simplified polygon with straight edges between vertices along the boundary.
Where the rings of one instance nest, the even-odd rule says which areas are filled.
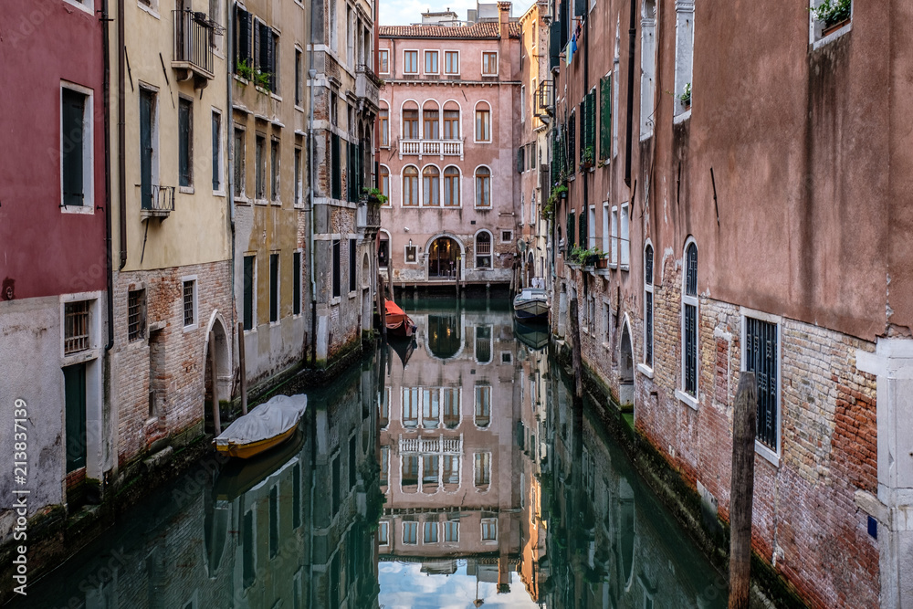
[[[92,184],[89,96],[73,89],[61,89],[60,93],[61,204],[93,208],[88,200]]]

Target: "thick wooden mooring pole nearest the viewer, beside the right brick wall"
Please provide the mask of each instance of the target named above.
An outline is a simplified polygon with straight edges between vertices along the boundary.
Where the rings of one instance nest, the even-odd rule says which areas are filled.
[[[740,374],[732,413],[732,488],[729,494],[729,609],[748,609],[751,575],[751,504],[758,394],[754,373]]]

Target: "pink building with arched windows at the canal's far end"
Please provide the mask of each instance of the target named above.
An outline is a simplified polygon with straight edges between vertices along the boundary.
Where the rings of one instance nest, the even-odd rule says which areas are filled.
[[[519,26],[380,28],[381,268],[394,285],[507,283],[519,221]]]

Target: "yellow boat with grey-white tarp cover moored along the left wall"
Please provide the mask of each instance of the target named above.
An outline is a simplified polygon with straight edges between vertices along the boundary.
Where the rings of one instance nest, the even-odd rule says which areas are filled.
[[[215,438],[215,450],[246,459],[289,439],[308,408],[307,395],[276,395],[241,416]]]

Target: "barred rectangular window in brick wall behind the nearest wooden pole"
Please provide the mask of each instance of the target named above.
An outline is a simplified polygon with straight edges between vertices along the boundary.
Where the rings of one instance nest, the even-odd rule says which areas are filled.
[[[758,441],[774,453],[779,448],[780,409],[777,324],[745,318],[745,370],[758,386]]]

